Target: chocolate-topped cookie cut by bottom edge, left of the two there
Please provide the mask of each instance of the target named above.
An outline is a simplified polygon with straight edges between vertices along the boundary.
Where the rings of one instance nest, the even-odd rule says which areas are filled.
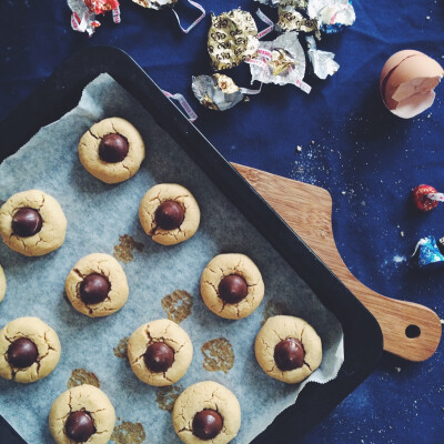
[[[49,427],[58,444],[105,444],[114,423],[115,412],[110,400],[89,384],[63,392],[49,413]]]

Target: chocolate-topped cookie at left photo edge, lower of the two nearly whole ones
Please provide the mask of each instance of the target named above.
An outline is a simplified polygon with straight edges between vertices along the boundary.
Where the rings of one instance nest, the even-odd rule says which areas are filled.
[[[48,376],[60,360],[57,333],[38,317],[19,317],[0,330],[0,376],[30,383]]]

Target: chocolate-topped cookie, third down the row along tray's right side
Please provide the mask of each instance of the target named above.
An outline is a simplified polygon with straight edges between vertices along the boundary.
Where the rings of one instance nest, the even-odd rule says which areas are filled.
[[[219,254],[203,270],[201,294],[218,316],[236,320],[258,309],[265,287],[261,272],[245,254]]]

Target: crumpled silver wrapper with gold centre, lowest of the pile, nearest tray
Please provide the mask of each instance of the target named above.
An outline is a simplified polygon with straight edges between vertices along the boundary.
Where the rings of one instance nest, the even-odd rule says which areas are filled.
[[[191,88],[196,99],[214,111],[229,110],[244,98],[234,81],[224,74],[193,77]]]

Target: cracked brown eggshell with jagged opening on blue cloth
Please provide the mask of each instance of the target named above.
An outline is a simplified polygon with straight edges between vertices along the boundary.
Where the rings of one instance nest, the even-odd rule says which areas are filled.
[[[434,89],[444,70],[435,60],[415,50],[394,53],[384,64],[380,91],[385,107],[402,119],[411,119],[432,107]]]

